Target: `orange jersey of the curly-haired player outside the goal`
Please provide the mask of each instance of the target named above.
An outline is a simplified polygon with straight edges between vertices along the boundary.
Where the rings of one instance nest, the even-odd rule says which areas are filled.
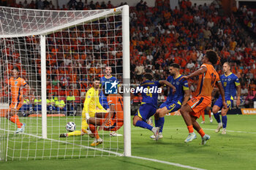
[[[203,63],[200,68],[206,67],[207,71],[199,75],[197,82],[196,96],[203,96],[211,99],[211,92],[214,89],[216,82],[219,82],[219,74],[211,64]]]

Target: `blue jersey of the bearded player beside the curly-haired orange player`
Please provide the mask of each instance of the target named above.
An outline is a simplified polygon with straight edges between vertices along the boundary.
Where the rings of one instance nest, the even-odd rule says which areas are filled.
[[[176,88],[176,93],[173,94],[173,89],[170,88],[170,93],[167,96],[166,102],[170,103],[173,101],[182,103],[184,99],[184,90],[189,90],[189,84],[187,80],[181,80],[183,75],[179,75],[178,78],[174,79],[173,76],[167,77],[167,82],[170,82]]]

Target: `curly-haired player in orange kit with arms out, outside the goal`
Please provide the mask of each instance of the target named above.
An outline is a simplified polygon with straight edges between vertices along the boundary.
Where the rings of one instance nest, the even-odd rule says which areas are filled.
[[[196,96],[190,99],[187,104],[181,107],[181,115],[184,118],[187,128],[189,130],[189,136],[184,142],[191,142],[196,139],[197,136],[194,133],[193,128],[202,136],[202,144],[206,144],[206,141],[210,139],[210,136],[204,133],[203,129],[197,123],[197,118],[200,117],[201,112],[204,112],[206,107],[211,104],[211,92],[214,89],[214,85],[217,85],[222,95],[223,107],[227,108],[225,101],[225,94],[222,87],[222,83],[219,80],[219,74],[214,69],[214,64],[218,61],[218,55],[213,50],[206,51],[206,55],[203,57],[203,65],[200,69],[182,77],[184,80],[188,80],[191,77],[198,76]]]

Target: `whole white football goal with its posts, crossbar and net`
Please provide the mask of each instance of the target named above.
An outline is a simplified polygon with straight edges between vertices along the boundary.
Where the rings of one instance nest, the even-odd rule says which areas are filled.
[[[118,20],[115,20],[115,17],[118,16],[121,18],[121,21],[119,23]],[[108,23],[108,21],[113,17],[113,20],[111,20],[111,23]],[[107,35],[106,37],[100,37],[100,31],[102,23],[99,22],[99,20],[105,20],[105,28],[107,29]],[[96,23],[95,23],[96,22]],[[99,9],[99,10],[88,10],[88,11],[50,11],[50,10],[35,10],[35,9],[18,9],[18,8],[10,8],[10,7],[0,7],[0,39],[2,43],[1,45],[1,55],[0,59],[5,66],[1,66],[3,69],[0,69],[0,89],[4,87],[6,80],[9,80],[11,77],[10,68],[9,65],[13,63],[20,63],[20,72],[23,71],[23,67],[27,71],[26,74],[26,81],[29,82],[28,84],[31,84],[31,89],[34,89],[34,96],[39,96],[42,98],[42,110],[40,112],[36,112],[35,117],[23,117],[20,116],[20,122],[26,122],[26,131],[20,136],[20,134],[13,135],[13,132],[15,131],[15,125],[13,123],[10,123],[7,119],[4,117],[0,117],[0,139],[2,142],[0,142],[0,158],[1,160],[29,160],[29,159],[42,159],[42,158],[81,158],[81,157],[87,157],[89,155],[97,156],[97,155],[105,155],[103,152],[107,152],[107,155],[124,155],[124,156],[131,156],[131,113],[130,113],[130,96],[129,93],[124,92],[123,98],[124,98],[124,139],[112,139],[106,137],[105,140],[108,140],[109,144],[103,144],[102,147],[90,147],[90,140],[89,136],[86,137],[80,137],[75,139],[69,138],[66,141],[56,139],[57,133],[61,133],[65,127],[65,121],[78,121],[80,120],[78,117],[65,117],[65,118],[55,118],[55,117],[48,117],[49,111],[48,111],[48,105],[47,105],[47,98],[48,98],[48,78],[54,77],[54,74],[52,74],[52,70],[54,66],[49,66],[48,62],[48,55],[50,50],[50,41],[56,43],[60,42],[63,48],[66,47],[64,45],[64,42],[69,42],[69,50],[72,49],[72,41],[78,42],[78,40],[74,40],[73,37],[74,34],[83,34],[84,37],[80,37],[83,39],[83,41],[87,41],[87,39],[93,39],[92,44],[89,42],[84,42],[84,47],[91,47],[91,51],[89,51],[89,54],[86,55],[86,60],[89,60],[89,62],[84,61],[84,63],[95,63],[94,61],[94,49],[96,48],[99,50],[97,53],[97,56],[99,58],[96,58],[99,63],[107,63],[102,64],[101,66],[98,66],[98,69],[101,69],[102,71],[98,74],[104,74],[103,70],[105,69],[105,66],[108,66],[110,61],[113,61],[115,63],[116,61],[116,53],[121,52],[121,60],[122,60],[122,74],[119,74],[116,72],[113,75],[116,75],[118,77],[121,77],[122,84],[124,86],[129,86],[129,78],[130,78],[130,72],[129,72],[129,7],[127,5],[124,5],[122,7],[117,7],[115,9]],[[86,25],[87,24],[87,25]],[[113,27],[109,25],[113,25]],[[91,30],[86,30],[86,25],[88,28],[91,27]],[[82,31],[80,31],[78,28],[83,27]],[[97,37],[94,37],[94,28],[99,27],[99,35]],[[86,28],[85,28],[86,27]],[[113,31],[113,37],[108,37],[108,28],[110,31]],[[121,37],[116,36],[116,30],[121,29]],[[72,31],[71,31],[72,30]],[[84,33],[85,31],[86,33]],[[61,35],[61,37],[57,37],[56,34]],[[97,34],[97,33],[96,33]],[[50,35],[50,36],[48,36]],[[64,35],[64,36],[62,36]],[[87,37],[87,36],[90,37]],[[92,35],[92,37],[91,37]],[[68,36],[68,37],[67,37]],[[99,36],[99,37],[98,37]],[[121,38],[121,42],[116,42],[116,39]],[[50,39],[50,41],[49,41]],[[94,45],[94,39],[99,39],[99,45]],[[100,39],[107,39],[107,41],[104,44],[100,44]],[[113,39],[113,41],[116,43],[112,45],[108,39]],[[96,40],[97,41],[97,40]],[[109,44],[108,44],[109,43]],[[119,43],[119,44],[118,44]],[[82,43],[81,43],[82,44]],[[26,47],[26,45],[29,45],[28,49],[23,49],[23,47]],[[80,48],[80,42],[78,42],[77,48],[78,51]],[[106,46],[107,52],[106,55],[101,55],[101,47]],[[120,46],[120,47],[119,47]],[[39,47],[39,49],[38,49]],[[121,51],[118,51],[120,50]],[[10,50],[10,53],[12,56],[9,56],[10,53],[6,53],[7,50]],[[20,53],[23,53],[23,55],[20,54],[18,58],[14,57],[15,51],[20,51]],[[85,49],[85,52],[86,49]],[[31,56],[34,56],[34,59],[30,59],[27,56],[27,53]],[[60,52],[56,52],[57,54]],[[110,55],[111,54],[111,55]],[[112,55],[113,54],[113,55]],[[63,52],[61,54],[66,57],[66,53]],[[67,54],[72,55],[72,52],[70,50],[70,53]],[[78,54],[80,55],[80,54]],[[39,56],[39,64],[40,66],[37,66],[36,64],[32,66],[33,63],[37,63],[36,56]],[[10,61],[10,58],[11,61]],[[14,59],[15,58],[15,59]],[[89,58],[89,59],[88,59]],[[117,58],[118,59],[118,58]],[[30,61],[31,60],[31,61]],[[80,60],[80,59],[79,59]],[[50,62],[53,60],[50,58]],[[55,61],[57,66],[57,69],[59,69],[60,66],[60,60],[58,56],[56,57]],[[2,64],[1,63],[1,64]],[[23,65],[23,63],[26,63]],[[79,61],[77,62],[79,65]],[[62,63],[61,63],[62,64]],[[71,64],[72,65],[72,64]],[[15,64],[13,64],[15,66]],[[104,66],[104,67],[103,67]],[[67,67],[67,66],[66,66]],[[74,69],[74,68],[75,69]],[[87,68],[86,66],[84,66]],[[116,67],[113,66],[115,69]],[[72,70],[78,70],[76,66],[72,65]],[[50,72],[50,75],[49,75]],[[72,71],[73,72],[73,71]],[[80,71],[79,71],[80,72]],[[57,73],[56,73],[57,74]],[[66,74],[66,73],[65,73]],[[77,74],[77,73],[76,73]],[[78,73],[78,77],[81,77],[82,74]],[[66,76],[66,75],[65,75]],[[97,74],[94,73],[94,77],[97,76]],[[86,72],[86,77],[89,77],[88,69]],[[34,80],[36,79],[36,80]],[[39,80],[40,79],[40,80]],[[88,78],[88,82],[90,82]],[[50,82],[51,83],[51,82]],[[40,84],[40,85],[39,85]],[[72,83],[70,83],[72,84]],[[77,83],[78,84],[78,83]],[[75,91],[76,85],[72,84],[73,88],[69,90]],[[67,89],[64,89],[67,91]],[[88,90],[88,88],[87,88]],[[32,92],[30,92],[32,93]],[[84,93],[83,93],[84,95]],[[11,96],[10,94],[6,93],[7,100],[1,99],[0,103],[4,102],[5,104],[8,102],[10,103]],[[79,98],[83,98],[84,96],[79,96]],[[32,99],[31,99],[32,100]],[[82,99],[80,99],[82,101]],[[80,102],[81,103],[81,102]],[[81,104],[82,106],[83,104]],[[0,108],[0,114],[4,114],[4,109]],[[30,110],[31,111],[31,110]],[[7,112],[7,111],[6,111]],[[32,114],[33,115],[33,114]],[[39,116],[40,115],[40,116]],[[50,122],[49,122],[50,120]],[[79,123],[78,123],[79,124]],[[49,127],[49,125],[51,125]],[[56,125],[58,125],[56,127]],[[32,127],[37,127],[35,129],[29,129]],[[60,129],[54,129],[54,128],[60,128]],[[49,134],[50,133],[50,134]],[[102,132],[102,136],[105,135],[106,132]],[[28,136],[28,139],[26,139],[25,136]],[[54,136],[54,138],[53,138]],[[58,136],[59,137],[59,136]],[[10,141],[5,141],[5,140]],[[80,140],[80,141],[79,141]],[[49,141],[49,142],[48,142]],[[121,144],[123,144],[122,147],[118,146],[118,142],[121,141]],[[5,144],[4,142],[7,142]],[[37,142],[37,143],[36,143]],[[54,142],[58,143],[55,147]],[[87,143],[86,143],[87,142]],[[113,144],[113,143],[115,144]],[[41,146],[42,144],[42,146]],[[66,144],[65,146],[62,146],[61,144]],[[72,147],[67,146],[72,145]],[[18,146],[19,148],[15,148],[15,146]],[[50,147],[53,146],[53,147]],[[105,147],[106,146],[106,147]],[[112,146],[115,146],[116,148],[113,148]],[[28,147],[29,151],[25,151]],[[87,150],[86,154],[83,154],[82,150]],[[94,150],[94,153],[88,150]],[[96,151],[95,151],[96,150]],[[114,150],[114,151],[113,151]],[[98,153],[98,151],[100,153]],[[24,152],[24,153],[23,153]],[[33,152],[35,157],[33,158],[33,154],[30,152]],[[49,153],[48,153],[49,152]],[[37,154],[39,156],[37,156]],[[73,155],[72,155],[73,154]]]

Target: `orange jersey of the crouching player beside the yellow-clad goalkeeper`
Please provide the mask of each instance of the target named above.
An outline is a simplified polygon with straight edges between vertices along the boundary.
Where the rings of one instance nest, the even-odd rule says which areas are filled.
[[[107,98],[108,105],[114,104],[115,106],[115,115],[112,120],[117,122],[124,121],[124,104],[123,104],[123,97],[119,94],[110,94]]]

